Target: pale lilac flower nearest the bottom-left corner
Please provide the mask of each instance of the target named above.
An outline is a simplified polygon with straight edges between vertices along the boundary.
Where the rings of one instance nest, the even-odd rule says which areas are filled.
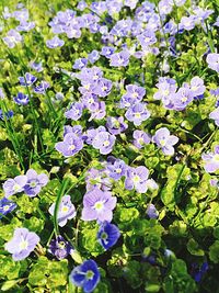
[[[39,237],[26,228],[15,228],[13,238],[5,244],[7,251],[12,253],[13,260],[22,260],[30,256],[36,245],[39,243]]]

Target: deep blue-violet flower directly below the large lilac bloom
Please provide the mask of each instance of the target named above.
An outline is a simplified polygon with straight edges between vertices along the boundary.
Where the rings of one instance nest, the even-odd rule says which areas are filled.
[[[104,249],[108,249],[114,246],[120,237],[119,229],[116,225],[108,222],[102,223],[97,232],[97,240]]]

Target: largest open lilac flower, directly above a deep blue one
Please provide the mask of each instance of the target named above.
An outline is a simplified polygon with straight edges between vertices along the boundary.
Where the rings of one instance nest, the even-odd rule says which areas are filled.
[[[111,222],[113,210],[117,199],[112,196],[110,191],[102,191],[97,188],[89,191],[83,196],[83,210],[81,218],[83,221]]]

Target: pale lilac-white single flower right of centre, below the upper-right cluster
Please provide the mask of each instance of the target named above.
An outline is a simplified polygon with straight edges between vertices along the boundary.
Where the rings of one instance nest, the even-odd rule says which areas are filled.
[[[153,135],[152,142],[155,143],[157,146],[162,149],[164,155],[173,156],[173,146],[177,144],[178,138],[175,135],[171,135],[170,131],[166,127],[161,127]]]

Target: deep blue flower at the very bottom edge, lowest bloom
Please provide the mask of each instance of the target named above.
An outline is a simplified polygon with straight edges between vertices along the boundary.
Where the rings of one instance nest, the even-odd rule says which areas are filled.
[[[81,286],[85,293],[92,292],[100,281],[99,268],[94,260],[85,260],[76,267],[70,273],[70,281]]]

